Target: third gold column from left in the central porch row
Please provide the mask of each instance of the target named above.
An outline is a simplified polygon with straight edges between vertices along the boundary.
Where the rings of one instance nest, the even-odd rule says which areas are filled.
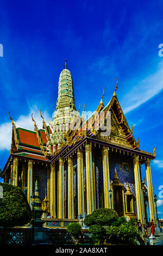
[[[68,218],[74,218],[73,159],[68,157]]]

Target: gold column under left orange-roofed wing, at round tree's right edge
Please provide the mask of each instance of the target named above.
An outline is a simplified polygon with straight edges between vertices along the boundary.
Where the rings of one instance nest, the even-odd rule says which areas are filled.
[[[28,161],[28,178],[27,178],[27,200],[30,206],[31,200],[30,197],[33,194],[33,161]]]

